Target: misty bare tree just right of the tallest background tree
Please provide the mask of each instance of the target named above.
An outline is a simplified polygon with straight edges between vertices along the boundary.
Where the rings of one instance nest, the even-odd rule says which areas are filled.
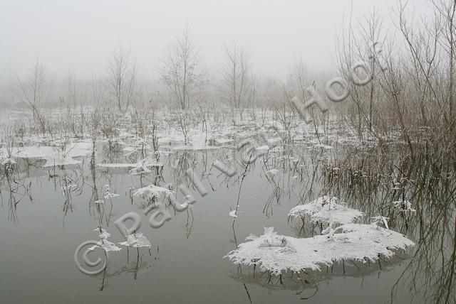
[[[222,67],[222,94],[234,109],[242,109],[253,98],[252,63],[249,52],[234,41],[225,45]],[[242,116],[242,114],[241,114]]]

